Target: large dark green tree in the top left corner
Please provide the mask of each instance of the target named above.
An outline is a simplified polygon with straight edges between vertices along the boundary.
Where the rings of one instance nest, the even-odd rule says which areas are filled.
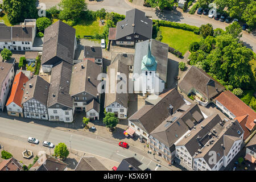
[[[23,22],[24,19],[36,18],[36,0],[4,0],[3,9],[7,13],[7,18],[11,24]]]

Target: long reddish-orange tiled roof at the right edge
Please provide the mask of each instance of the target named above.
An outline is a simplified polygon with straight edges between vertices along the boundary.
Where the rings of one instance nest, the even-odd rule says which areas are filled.
[[[256,119],[256,113],[249,106],[247,106],[243,101],[241,101],[232,92],[225,91],[222,92],[218,97],[215,98],[218,102],[231,111],[236,117],[241,117],[242,115],[248,114],[245,126],[250,131],[255,127],[254,119]],[[240,119],[241,120],[241,119]],[[242,120],[241,120],[242,121]]]

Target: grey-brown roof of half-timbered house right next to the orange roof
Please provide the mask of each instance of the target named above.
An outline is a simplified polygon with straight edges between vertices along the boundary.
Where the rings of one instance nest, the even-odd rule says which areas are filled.
[[[32,84],[32,87],[30,86]],[[47,105],[47,98],[50,84],[40,76],[36,75],[31,80],[26,82],[24,89],[22,104],[34,98],[43,105]]]

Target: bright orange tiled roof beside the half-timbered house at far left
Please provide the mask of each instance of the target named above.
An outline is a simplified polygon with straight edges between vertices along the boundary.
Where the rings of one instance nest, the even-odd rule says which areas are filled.
[[[6,103],[6,106],[14,102],[16,105],[22,107],[22,96],[24,90],[24,84],[28,81],[28,77],[24,73],[19,72],[18,75],[14,77],[13,87],[11,88],[10,97]]]

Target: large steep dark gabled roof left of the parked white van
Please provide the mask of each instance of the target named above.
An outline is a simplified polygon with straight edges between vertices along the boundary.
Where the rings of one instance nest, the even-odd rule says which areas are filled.
[[[73,64],[75,28],[60,20],[44,30],[42,64],[55,65],[60,60]]]

